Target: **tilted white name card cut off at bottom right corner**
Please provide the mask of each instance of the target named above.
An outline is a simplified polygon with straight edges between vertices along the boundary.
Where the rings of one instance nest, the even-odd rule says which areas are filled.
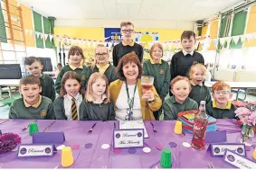
[[[256,163],[247,157],[242,157],[235,152],[226,149],[223,161],[241,169],[256,169]]]

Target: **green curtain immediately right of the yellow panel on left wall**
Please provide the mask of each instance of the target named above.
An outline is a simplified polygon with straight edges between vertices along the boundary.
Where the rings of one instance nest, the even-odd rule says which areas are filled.
[[[42,15],[34,11],[33,11],[33,24],[34,24],[34,31],[43,33]],[[43,40],[41,39],[41,37],[39,36],[39,38],[37,38],[37,35],[34,35],[34,36],[35,36],[36,47],[43,49],[44,46],[43,46]]]

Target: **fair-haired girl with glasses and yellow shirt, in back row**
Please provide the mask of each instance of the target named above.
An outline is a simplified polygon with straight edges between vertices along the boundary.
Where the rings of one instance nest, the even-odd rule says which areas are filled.
[[[103,44],[99,44],[95,49],[95,62],[92,66],[84,69],[86,82],[88,82],[90,75],[95,72],[104,74],[109,84],[118,79],[116,74],[116,67],[109,63],[109,49]]]

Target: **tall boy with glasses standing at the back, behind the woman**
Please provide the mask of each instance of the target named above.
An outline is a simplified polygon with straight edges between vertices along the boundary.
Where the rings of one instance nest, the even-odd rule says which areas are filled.
[[[113,65],[118,66],[119,60],[129,52],[134,51],[140,63],[143,59],[143,48],[133,40],[134,25],[132,22],[121,22],[121,34],[123,41],[117,44],[113,49]]]

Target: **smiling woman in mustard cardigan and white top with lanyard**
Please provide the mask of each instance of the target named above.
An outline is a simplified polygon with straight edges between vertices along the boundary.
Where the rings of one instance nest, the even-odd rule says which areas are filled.
[[[158,111],[162,100],[152,86],[142,91],[140,77],[142,67],[135,53],[120,59],[117,67],[119,79],[109,85],[110,99],[114,103],[118,121],[155,121],[153,112]]]

